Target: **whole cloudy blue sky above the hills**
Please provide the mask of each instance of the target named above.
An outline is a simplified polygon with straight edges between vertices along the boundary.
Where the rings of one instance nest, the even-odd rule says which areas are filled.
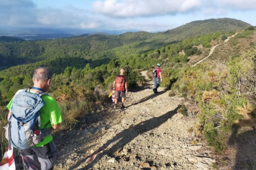
[[[256,25],[255,0],[0,0],[0,26],[164,31],[208,18]]]

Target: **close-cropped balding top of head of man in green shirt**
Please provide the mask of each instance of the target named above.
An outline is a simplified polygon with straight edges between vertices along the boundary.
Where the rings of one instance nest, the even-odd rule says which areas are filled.
[[[46,67],[38,67],[33,73],[33,81],[48,81],[53,77],[53,73]]]

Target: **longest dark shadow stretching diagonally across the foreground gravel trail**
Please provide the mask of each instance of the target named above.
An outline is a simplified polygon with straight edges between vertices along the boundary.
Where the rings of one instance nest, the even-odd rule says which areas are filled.
[[[116,144],[114,144],[113,147],[111,147],[111,148],[109,148],[109,150],[105,150],[103,152],[103,153],[106,153],[107,155],[113,157],[114,153],[116,153],[117,150],[119,150],[119,148],[124,147],[124,145],[128,144],[135,137],[137,137],[140,134],[143,134],[147,131],[155,129],[156,127],[159,127],[161,124],[168,121],[169,118],[173,117],[173,115],[175,115],[177,113],[177,110],[179,110],[179,108],[181,108],[181,105],[177,106],[177,108],[175,108],[172,111],[168,111],[164,115],[148,119],[147,121],[142,121],[141,123],[136,124],[135,126],[130,126],[128,129],[124,129],[119,134],[116,134],[116,136],[113,139],[108,140],[106,142],[106,144],[104,144],[103,147],[100,148],[100,150],[105,150],[108,147],[108,145],[110,145],[111,143],[116,142],[118,140],[118,142]],[[92,158],[94,155],[99,153],[100,150],[97,150],[96,152],[92,153],[92,155],[87,156],[87,158],[80,160],[76,165],[70,167],[69,170],[79,167],[79,165],[81,163],[84,163],[88,158]],[[97,156],[97,158],[95,158],[95,160],[93,160],[91,163],[87,164],[87,166],[85,166],[82,169],[93,168],[93,166],[101,159],[101,157],[103,155],[104,154],[101,154],[101,153],[98,154],[98,156]]]

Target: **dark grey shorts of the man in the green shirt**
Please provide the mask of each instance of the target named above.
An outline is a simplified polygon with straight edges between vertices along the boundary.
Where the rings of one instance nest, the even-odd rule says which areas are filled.
[[[57,160],[57,148],[53,140],[43,147],[36,147],[36,149],[29,148],[19,151],[25,170],[53,169]]]

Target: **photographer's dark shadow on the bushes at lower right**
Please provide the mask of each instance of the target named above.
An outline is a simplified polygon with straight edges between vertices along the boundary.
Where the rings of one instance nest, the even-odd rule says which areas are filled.
[[[252,113],[255,116],[255,113]],[[256,169],[256,134],[255,117],[242,119],[237,124],[233,124],[233,132],[229,137],[228,144],[236,147],[236,160],[233,169]],[[242,126],[254,127],[254,130],[241,131]]]

